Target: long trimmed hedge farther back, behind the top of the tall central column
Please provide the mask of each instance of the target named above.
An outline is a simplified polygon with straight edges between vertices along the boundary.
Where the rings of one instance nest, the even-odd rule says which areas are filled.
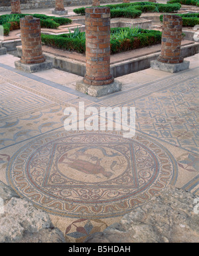
[[[135,3],[119,3],[116,5],[103,5],[101,7],[110,7],[110,12],[111,12],[111,18],[114,17],[138,17],[133,14],[133,9],[134,11],[141,11],[141,12],[160,12],[160,13],[176,13],[181,5],[180,3],[170,3],[170,4],[161,4],[161,3],[152,3],[152,2],[135,2]],[[78,15],[85,15],[85,7],[77,8],[74,9],[74,13]],[[120,15],[119,15],[119,10]],[[126,11],[125,11],[126,10]],[[127,11],[129,10],[129,11]],[[125,11],[126,14],[123,12]],[[117,13],[117,14],[115,14]],[[127,14],[128,13],[128,14]],[[132,14],[130,14],[132,13]],[[117,16],[116,16],[117,15]]]

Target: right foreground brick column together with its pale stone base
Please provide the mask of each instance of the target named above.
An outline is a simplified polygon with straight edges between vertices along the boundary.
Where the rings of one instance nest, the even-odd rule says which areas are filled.
[[[167,72],[179,72],[187,69],[188,61],[180,56],[182,41],[182,17],[177,15],[163,15],[163,33],[161,55],[157,61],[151,61],[151,67]]]

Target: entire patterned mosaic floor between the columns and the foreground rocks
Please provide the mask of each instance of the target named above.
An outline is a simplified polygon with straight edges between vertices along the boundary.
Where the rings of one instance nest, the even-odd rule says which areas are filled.
[[[198,70],[143,84],[122,76],[121,92],[92,98],[0,64],[0,180],[47,211],[70,242],[103,231],[168,184],[198,196]],[[64,108],[79,102],[135,106],[135,136],[66,132]]]

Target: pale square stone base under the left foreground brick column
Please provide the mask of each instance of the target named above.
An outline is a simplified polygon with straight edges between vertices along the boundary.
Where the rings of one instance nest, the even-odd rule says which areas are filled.
[[[44,61],[44,63],[38,64],[23,64],[21,63],[21,61],[15,61],[15,68],[27,73],[34,73],[42,70],[51,69],[52,61]]]

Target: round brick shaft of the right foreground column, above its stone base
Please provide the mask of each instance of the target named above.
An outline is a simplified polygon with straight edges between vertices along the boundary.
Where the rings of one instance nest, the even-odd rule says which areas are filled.
[[[182,63],[180,57],[180,45],[182,41],[182,18],[177,15],[163,15],[163,34],[161,55],[158,61],[161,63]]]

